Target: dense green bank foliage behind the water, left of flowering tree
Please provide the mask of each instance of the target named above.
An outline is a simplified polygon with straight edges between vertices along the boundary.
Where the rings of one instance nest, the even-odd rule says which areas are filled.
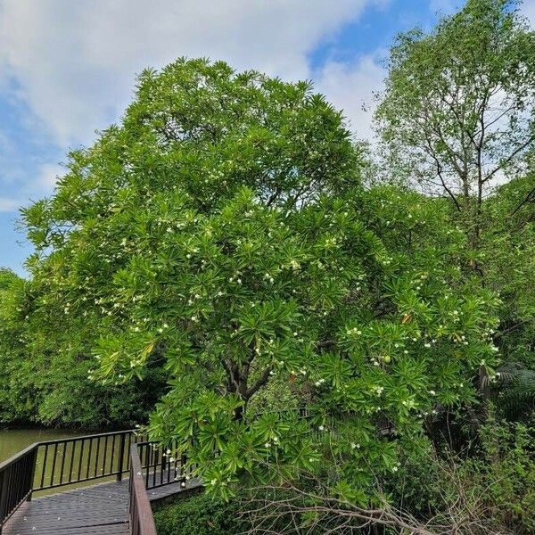
[[[95,321],[60,316],[34,281],[11,273],[0,288],[0,423],[96,428],[146,419],[161,391],[158,368],[144,383],[95,385],[88,378]]]

